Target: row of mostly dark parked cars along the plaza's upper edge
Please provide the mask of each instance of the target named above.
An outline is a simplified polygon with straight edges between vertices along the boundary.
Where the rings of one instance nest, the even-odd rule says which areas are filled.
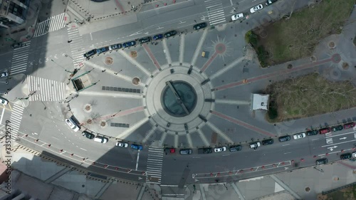
[[[205,28],[207,25],[205,22],[203,23],[198,23],[196,25],[193,26],[194,30],[199,30],[201,28]],[[167,33],[164,33],[164,34],[157,34],[155,36],[153,36],[153,38],[151,38],[150,36],[147,36],[145,38],[139,38],[138,39],[138,42],[139,43],[148,43],[150,41],[157,41],[157,40],[161,40],[162,38],[169,38],[169,37],[172,37],[172,36],[175,36],[177,35],[177,31],[168,31]],[[113,45],[110,45],[110,46],[105,46],[105,47],[102,47],[102,48],[95,48],[93,50],[90,50],[88,51],[87,53],[84,53],[84,58],[90,58],[91,56],[94,56],[95,54],[100,54],[100,53],[105,53],[107,51],[112,51],[112,50],[117,50],[117,49],[120,49],[120,48],[127,48],[127,47],[130,47],[130,46],[135,46],[136,45],[136,41],[128,41],[128,42],[125,42],[125,43],[116,43],[116,44],[113,44]]]

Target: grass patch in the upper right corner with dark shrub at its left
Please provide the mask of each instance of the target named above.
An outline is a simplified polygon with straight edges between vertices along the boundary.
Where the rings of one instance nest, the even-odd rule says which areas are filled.
[[[354,4],[355,0],[323,0],[313,7],[293,12],[288,20],[281,19],[267,26],[263,31],[267,33],[264,38],[258,36],[258,31],[251,31],[247,38],[257,38],[257,41],[252,40],[252,43],[250,40],[250,43],[263,67],[305,58],[312,55],[322,38],[341,33]]]

